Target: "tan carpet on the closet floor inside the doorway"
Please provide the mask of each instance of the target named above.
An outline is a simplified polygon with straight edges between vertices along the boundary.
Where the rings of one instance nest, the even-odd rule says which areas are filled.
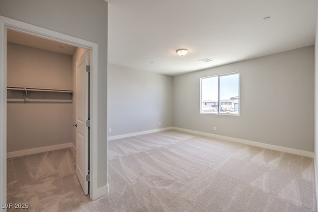
[[[71,148],[7,159],[7,203],[28,204],[8,212],[71,211],[84,202]]]

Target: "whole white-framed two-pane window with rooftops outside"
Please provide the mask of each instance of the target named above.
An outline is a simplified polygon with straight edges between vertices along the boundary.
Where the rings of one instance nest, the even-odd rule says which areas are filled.
[[[239,114],[239,72],[203,77],[200,113]]]

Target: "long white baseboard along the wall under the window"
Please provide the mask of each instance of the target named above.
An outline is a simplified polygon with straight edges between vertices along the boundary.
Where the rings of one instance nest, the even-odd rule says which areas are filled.
[[[236,138],[232,138],[232,137],[220,136],[220,135],[215,135],[215,134],[210,134],[210,133],[203,133],[203,132],[199,132],[199,131],[187,130],[187,129],[177,128],[177,127],[173,127],[173,130],[182,131],[182,132],[186,132],[186,133],[192,133],[192,134],[196,134],[196,135],[200,135],[200,136],[211,137],[211,138],[215,138],[215,139],[222,139],[222,140],[226,140],[226,141],[243,143],[243,144],[247,144],[247,145],[251,145],[251,146],[257,146],[257,147],[287,152],[287,153],[291,153],[291,154],[297,154],[297,155],[306,156],[306,157],[312,157],[312,158],[314,157],[314,152],[293,149],[293,148],[288,148],[288,147],[284,147],[284,146],[276,146],[276,145],[267,144],[267,143],[248,141],[248,140],[243,140],[243,139],[236,139]]]

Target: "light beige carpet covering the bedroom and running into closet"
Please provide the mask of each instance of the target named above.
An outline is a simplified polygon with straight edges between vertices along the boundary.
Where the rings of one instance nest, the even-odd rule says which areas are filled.
[[[108,141],[110,194],[89,201],[74,173],[50,154],[45,162],[8,160],[16,166],[15,175],[8,170],[8,202],[29,203],[31,211],[317,211],[313,158],[178,131]],[[36,163],[51,167],[36,170]]]

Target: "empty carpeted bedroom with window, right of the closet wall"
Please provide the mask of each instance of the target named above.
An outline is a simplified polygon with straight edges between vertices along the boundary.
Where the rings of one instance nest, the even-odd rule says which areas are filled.
[[[121,3],[109,2],[105,205],[317,211],[317,2]]]

